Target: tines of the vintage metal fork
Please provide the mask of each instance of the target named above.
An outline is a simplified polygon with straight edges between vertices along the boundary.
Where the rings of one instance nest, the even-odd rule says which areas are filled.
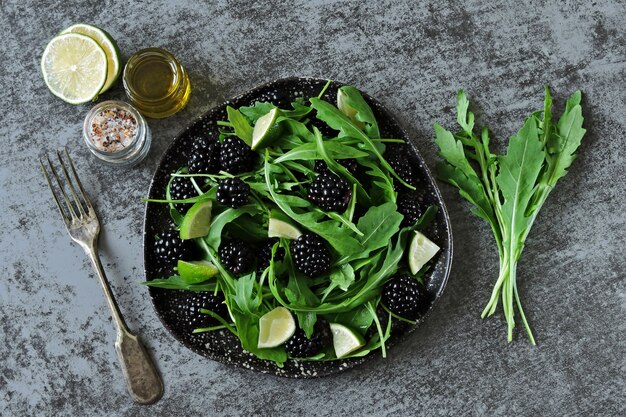
[[[63,154],[67,162],[64,161]],[[50,191],[59,208],[61,217],[63,217],[65,222],[73,222],[92,213],[93,206],[83,190],[83,186],[76,174],[76,169],[74,168],[70,154],[67,152],[67,148],[64,148],[63,152],[57,150],[56,155],[61,166],[62,177],[57,174],[57,170],[54,168],[49,155],[40,157],[39,165],[41,165],[41,170],[46,177],[48,187],[50,187]],[[49,172],[52,174],[50,175]],[[51,177],[54,178],[54,181],[50,179]],[[69,196],[71,196],[71,198],[68,196],[66,190],[69,190]]]

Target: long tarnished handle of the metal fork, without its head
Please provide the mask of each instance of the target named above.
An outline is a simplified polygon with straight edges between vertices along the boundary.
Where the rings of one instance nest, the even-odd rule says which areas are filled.
[[[111,316],[117,327],[115,350],[120,360],[128,392],[139,404],[153,404],[163,395],[163,381],[141,340],[131,333],[113,297],[111,286],[102,268],[97,246],[85,247],[98,280],[104,290]]]

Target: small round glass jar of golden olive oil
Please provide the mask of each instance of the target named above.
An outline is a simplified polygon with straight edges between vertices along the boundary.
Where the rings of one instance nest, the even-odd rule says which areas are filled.
[[[171,53],[146,48],[130,57],[122,78],[131,103],[145,116],[169,117],[189,101],[187,72]]]

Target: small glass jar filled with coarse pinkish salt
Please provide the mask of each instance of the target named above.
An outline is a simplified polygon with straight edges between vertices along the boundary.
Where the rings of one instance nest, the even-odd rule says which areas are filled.
[[[123,101],[109,100],[87,113],[83,139],[101,162],[128,167],[146,157],[152,133],[137,109]]]

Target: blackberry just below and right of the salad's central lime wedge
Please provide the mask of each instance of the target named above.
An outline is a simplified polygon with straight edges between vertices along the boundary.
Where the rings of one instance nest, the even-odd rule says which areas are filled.
[[[291,241],[291,256],[300,272],[314,278],[330,270],[330,251],[315,233],[304,233]]]

